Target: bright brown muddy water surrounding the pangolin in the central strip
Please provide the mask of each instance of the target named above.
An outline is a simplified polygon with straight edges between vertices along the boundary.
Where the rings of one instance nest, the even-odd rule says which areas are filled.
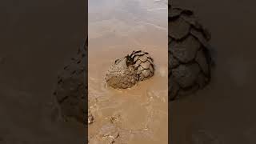
[[[89,140],[100,143],[104,127],[113,125],[115,142],[167,143],[168,63],[165,1],[89,1],[89,107],[94,123]],[[106,86],[106,70],[116,58],[146,50],[154,58],[154,77],[127,90]],[[114,122],[111,121],[111,119]],[[110,130],[110,129],[109,129]],[[107,133],[107,132],[106,132]],[[103,142],[104,143],[104,142]]]

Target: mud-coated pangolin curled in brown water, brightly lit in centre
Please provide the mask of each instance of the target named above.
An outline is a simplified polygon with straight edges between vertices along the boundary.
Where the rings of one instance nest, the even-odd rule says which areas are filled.
[[[108,86],[126,89],[154,75],[154,60],[146,51],[137,50],[117,59],[106,72]]]

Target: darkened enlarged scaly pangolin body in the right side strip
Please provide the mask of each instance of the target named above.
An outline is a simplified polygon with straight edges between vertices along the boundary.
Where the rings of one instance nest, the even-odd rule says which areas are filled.
[[[210,82],[210,33],[193,11],[169,5],[168,38],[169,98],[173,101]]]

